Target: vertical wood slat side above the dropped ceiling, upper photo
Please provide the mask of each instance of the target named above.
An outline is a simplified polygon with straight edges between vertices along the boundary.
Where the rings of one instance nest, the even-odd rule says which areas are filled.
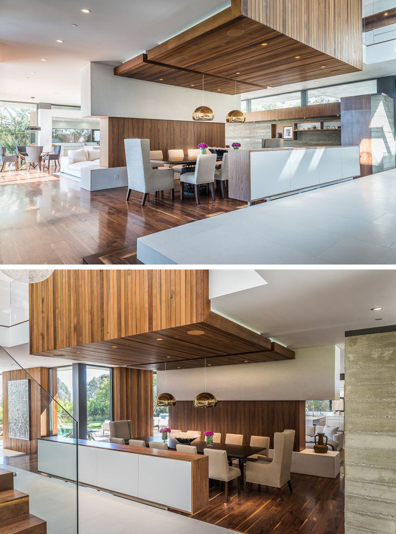
[[[361,0],[244,0],[242,13],[331,57],[363,68]]]

